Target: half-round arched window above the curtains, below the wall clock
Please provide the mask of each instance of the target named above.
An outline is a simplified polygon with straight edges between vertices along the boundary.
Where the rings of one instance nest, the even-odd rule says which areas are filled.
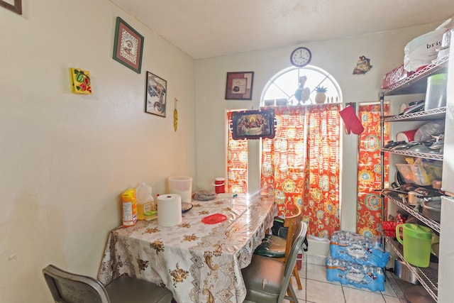
[[[305,80],[304,83],[301,83],[301,80]],[[288,67],[278,72],[265,85],[260,104],[262,106],[316,104],[317,87],[326,89],[326,103],[342,103],[341,88],[336,79],[326,70],[307,65],[301,68]],[[301,89],[309,92],[309,96],[301,98]]]

